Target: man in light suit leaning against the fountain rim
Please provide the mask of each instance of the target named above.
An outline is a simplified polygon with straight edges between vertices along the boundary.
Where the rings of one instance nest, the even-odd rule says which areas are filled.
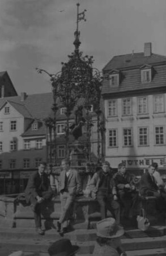
[[[81,182],[78,171],[70,168],[70,162],[62,160],[62,171],[59,180],[59,192],[61,199],[61,216],[57,222],[58,232],[61,236],[67,230],[69,211],[74,202],[75,196],[81,192]]]

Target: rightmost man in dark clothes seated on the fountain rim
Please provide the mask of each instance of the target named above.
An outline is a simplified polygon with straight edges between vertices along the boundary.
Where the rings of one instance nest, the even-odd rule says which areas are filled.
[[[142,196],[155,196],[156,208],[161,211],[165,208],[165,193],[161,193],[158,185],[156,184],[155,177],[153,176],[155,172],[154,165],[150,164],[148,167],[148,172],[143,174],[140,181],[140,193]]]

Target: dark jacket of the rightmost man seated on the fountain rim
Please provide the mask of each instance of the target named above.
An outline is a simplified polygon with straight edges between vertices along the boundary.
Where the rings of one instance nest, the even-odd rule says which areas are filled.
[[[150,191],[158,191],[158,185],[154,181],[152,181],[151,175],[149,172],[146,174],[143,174],[140,180],[140,193],[143,196],[146,196],[148,192]]]

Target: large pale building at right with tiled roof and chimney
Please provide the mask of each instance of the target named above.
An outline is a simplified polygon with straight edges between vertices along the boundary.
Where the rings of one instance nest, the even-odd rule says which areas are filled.
[[[144,52],[114,56],[104,67],[105,159],[124,162],[141,175],[157,162],[164,174],[166,156],[166,57]]]

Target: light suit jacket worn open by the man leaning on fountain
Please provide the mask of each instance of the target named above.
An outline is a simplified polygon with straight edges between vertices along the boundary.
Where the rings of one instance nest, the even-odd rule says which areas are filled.
[[[59,179],[59,192],[62,192],[65,189],[65,175],[66,171],[62,171]],[[82,191],[80,176],[78,171],[75,169],[70,170],[69,177],[67,179],[67,188],[69,190],[70,195],[77,195]]]

